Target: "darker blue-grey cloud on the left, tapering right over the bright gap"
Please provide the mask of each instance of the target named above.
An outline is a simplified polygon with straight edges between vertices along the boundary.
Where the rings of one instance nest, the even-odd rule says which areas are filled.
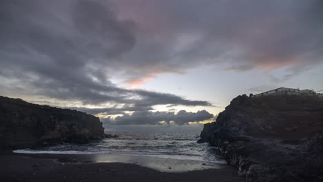
[[[210,105],[173,94],[117,88],[110,82],[116,60],[136,43],[136,25],[119,19],[109,3],[4,0],[0,19],[0,76],[15,81],[3,85],[6,90],[136,108]],[[16,90],[17,84],[23,86]]]

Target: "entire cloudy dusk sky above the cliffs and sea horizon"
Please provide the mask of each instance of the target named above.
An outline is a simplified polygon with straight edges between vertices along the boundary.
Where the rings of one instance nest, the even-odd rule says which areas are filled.
[[[200,129],[239,94],[323,90],[322,9],[320,0],[1,0],[0,94],[95,114],[108,130]]]

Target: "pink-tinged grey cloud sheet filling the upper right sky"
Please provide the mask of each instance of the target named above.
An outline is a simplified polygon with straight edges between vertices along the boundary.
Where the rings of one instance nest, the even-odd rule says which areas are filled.
[[[214,63],[236,71],[286,68],[284,81],[322,63],[320,0],[114,2],[141,28],[128,55],[144,70]]]

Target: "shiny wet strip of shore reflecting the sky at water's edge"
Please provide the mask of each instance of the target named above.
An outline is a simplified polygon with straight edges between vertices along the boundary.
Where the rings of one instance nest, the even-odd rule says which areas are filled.
[[[16,150],[12,151],[12,154],[21,154],[33,158],[39,158],[39,155],[45,158],[57,159],[59,157],[58,161],[67,163],[135,163],[160,172],[188,172],[193,170],[219,169],[226,166],[225,161],[222,160],[205,161],[166,155],[128,153],[43,153],[42,151],[39,153],[20,153],[16,152]]]

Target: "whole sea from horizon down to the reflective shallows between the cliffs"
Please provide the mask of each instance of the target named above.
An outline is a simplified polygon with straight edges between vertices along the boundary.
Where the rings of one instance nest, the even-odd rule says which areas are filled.
[[[119,137],[77,145],[55,145],[37,150],[14,150],[24,154],[95,154],[96,162],[138,163],[173,172],[212,168],[225,161],[217,148],[197,143],[199,132],[109,132]]]

